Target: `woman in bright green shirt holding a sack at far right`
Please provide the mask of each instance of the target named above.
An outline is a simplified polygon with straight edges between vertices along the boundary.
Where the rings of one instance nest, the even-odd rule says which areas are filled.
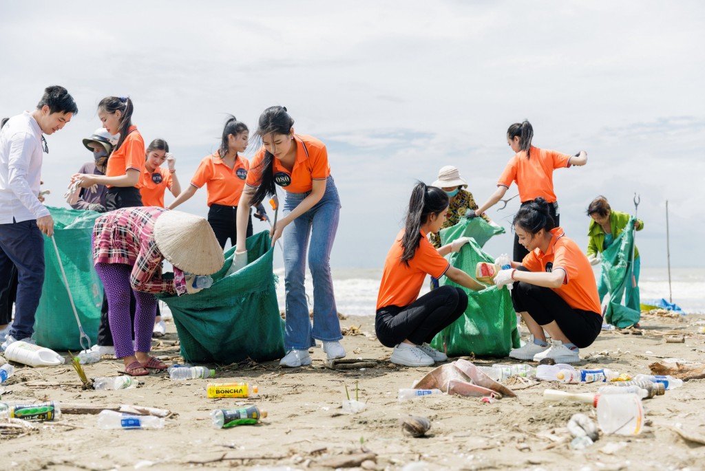
[[[599,254],[612,245],[613,241],[619,237],[619,234],[627,227],[630,215],[620,211],[612,211],[610,203],[604,196],[598,196],[592,200],[590,206],[587,207],[587,215],[592,218],[590,228],[587,231],[589,237],[587,242],[587,259],[592,265],[600,263]],[[644,222],[640,219],[635,220],[634,228],[640,231],[644,228]],[[634,262],[632,271],[634,280],[627,280],[625,287],[625,305],[627,308],[641,310],[639,303],[639,268],[641,258],[639,258],[639,249],[634,248]],[[607,287],[600,277],[597,285],[597,292],[600,296],[600,301],[607,294]]]

